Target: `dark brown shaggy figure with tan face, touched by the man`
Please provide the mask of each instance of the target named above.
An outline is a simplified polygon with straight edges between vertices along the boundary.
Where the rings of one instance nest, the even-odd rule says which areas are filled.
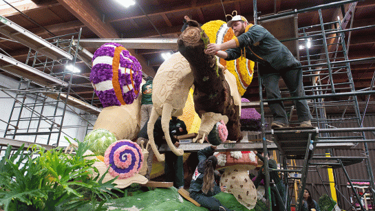
[[[202,28],[196,21],[189,21],[189,25],[178,39],[178,50],[189,61],[193,71],[195,111],[200,118],[206,112],[226,115],[229,119],[226,124],[228,140],[242,140],[239,105],[235,104],[231,89],[224,77],[226,69],[217,65],[215,56],[204,54],[209,38]]]

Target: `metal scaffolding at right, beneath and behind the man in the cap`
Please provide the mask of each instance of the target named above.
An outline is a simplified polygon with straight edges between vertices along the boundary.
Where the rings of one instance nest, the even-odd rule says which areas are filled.
[[[369,60],[375,60],[372,58],[361,58],[361,59],[349,59],[347,56],[347,45],[345,44],[345,32],[352,32],[353,30],[363,30],[369,27],[375,27],[369,25],[366,27],[357,28],[343,28],[344,21],[332,21],[324,23],[321,10],[343,7],[344,4],[350,3],[349,9],[346,14],[343,14],[343,20],[347,19],[348,16],[354,15],[354,8],[356,1],[338,1],[334,3],[328,3],[325,5],[319,5],[312,8],[306,8],[302,10],[292,10],[290,12],[283,12],[280,14],[274,14],[264,17],[258,17],[257,1],[253,0],[254,8],[254,20],[255,24],[261,23],[261,21],[273,19],[279,19],[283,16],[290,16],[299,14],[302,12],[318,12],[320,23],[318,25],[312,25],[308,27],[298,28],[298,36],[296,38],[289,38],[281,42],[287,41],[299,41],[301,61],[301,69],[303,70],[303,78],[305,81],[309,81],[310,85],[305,85],[306,97],[290,98],[287,92],[281,91],[281,99],[264,99],[264,93],[261,77],[259,76],[259,96],[261,99],[261,123],[262,123],[262,140],[264,144],[265,157],[268,154],[266,142],[266,134],[272,134],[274,137],[275,144],[277,145],[281,154],[283,165],[282,169],[270,169],[268,167],[268,160],[265,159],[265,185],[266,185],[266,199],[268,201],[268,208],[272,210],[270,206],[270,171],[278,171],[282,173],[296,172],[301,173],[301,183],[299,186],[297,210],[303,209],[303,190],[306,186],[306,178],[308,176],[309,166],[319,166],[324,164],[329,168],[342,168],[345,173],[345,177],[352,187],[353,193],[360,205],[361,210],[365,210],[363,203],[361,203],[361,196],[359,196],[353,187],[352,179],[347,175],[345,166],[358,164],[359,162],[365,161],[367,170],[368,181],[370,184],[370,192],[372,196],[375,196],[374,187],[374,175],[372,175],[372,166],[369,162],[369,150],[367,142],[374,142],[374,140],[367,140],[365,137],[365,131],[375,131],[375,128],[363,127],[363,118],[365,111],[361,114],[359,109],[357,96],[370,95],[375,93],[372,90],[374,80],[371,87],[365,90],[356,90],[354,87],[354,81],[352,78],[351,64],[365,63]],[[313,45],[311,43],[314,43]],[[310,49],[310,47],[312,49]],[[318,49],[318,50],[317,50]],[[345,79],[345,80],[343,80]],[[335,100],[336,98],[347,98],[347,100]],[[308,128],[288,128],[288,129],[275,129],[266,131],[266,124],[264,118],[264,103],[265,102],[276,102],[276,101],[291,101],[291,100],[302,100],[307,99],[310,101],[309,107],[313,115],[312,122],[317,127],[314,129]],[[367,98],[367,104],[369,100]],[[367,107],[367,104],[365,107]],[[330,107],[344,107],[342,118],[339,120],[330,119],[327,115],[327,109]],[[345,111],[352,109],[355,113],[355,118],[345,118]],[[292,112],[291,112],[292,113]],[[291,115],[292,116],[292,115]],[[291,121],[293,121],[291,117]],[[340,124],[343,122],[352,122],[356,126],[353,128],[340,128]],[[352,135],[343,135],[345,132],[352,132]],[[331,151],[330,157],[319,157],[314,155],[314,149],[317,148],[318,144],[335,144],[335,146],[327,145],[328,148],[334,148],[341,145],[341,148],[353,147],[357,144],[363,144],[363,157],[334,157]],[[302,159],[303,166],[301,169],[288,169],[287,159]],[[322,163],[314,162],[316,160],[323,161]],[[288,184],[287,174],[283,174],[286,184]],[[290,195],[288,194],[288,188],[286,188],[287,199],[283,206],[283,210],[290,209]]]

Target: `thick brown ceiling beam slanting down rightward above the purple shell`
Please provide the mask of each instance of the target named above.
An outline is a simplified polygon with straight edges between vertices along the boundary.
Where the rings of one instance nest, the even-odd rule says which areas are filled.
[[[120,38],[118,33],[109,23],[103,23],[100,19],[100,13],[87,0],[58,0],[69,12],[71,12],[78,20],[84,23],[92,32],[100,38]],[[137,55],[133,49],[128,49],[130,54],[136,56],[142,71],[148,76],[155,76],[156,72],[147,65],[143,56]]]

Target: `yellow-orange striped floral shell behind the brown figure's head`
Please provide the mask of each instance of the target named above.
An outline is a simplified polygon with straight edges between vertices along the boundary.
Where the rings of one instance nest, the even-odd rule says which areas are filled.
[[[209,21],[202,25],[202,29],[210,38],[211,43],[221,44],[235,38],[235,33],[230,27],[226,26],[224,21]],[[243,96],[246,88],[253,80],[255,63],[242,57],[230,61],[217,57],[217,62],[226,67],[235,76],[239,94]]]

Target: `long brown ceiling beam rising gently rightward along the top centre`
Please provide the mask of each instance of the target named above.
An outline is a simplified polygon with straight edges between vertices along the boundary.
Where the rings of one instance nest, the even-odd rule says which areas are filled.
[[[58,0],[61,1],[61,0]],[[236,3],[236,2],[241,2],[244,0],[233,0],[233,1],[220,1],[220,0],[212,0],[209,1],[209,3],[206,2],[199,2],[196,3],[196,5],[178,5],[178,6],[166,6],[166,5],[160,5],[160,7],[153,7],[152,10],[148,12],[148,16],[160,16],[161,14],[167,14],[167,13],[173,13],[173,12],[186,12],[186,10],[196,10],[197,8],[211,8],[212,6],[215,5],[221,5],[222,3],[225,4],[230,4],[230,3]],[[244,1],[247,2],[247,1]],[[144,19],[147,18],[142,12],[138,10],[134,10],[129,12],[129,14],[126,17],[123,18],[117,18],[117,19],[111,19],[108,22],[119,22],[119,21],[127,21],[129,19]]]

